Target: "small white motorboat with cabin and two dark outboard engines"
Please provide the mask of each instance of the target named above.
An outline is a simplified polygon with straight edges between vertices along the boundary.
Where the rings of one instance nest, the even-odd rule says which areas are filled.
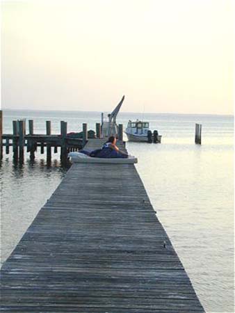
[[[161,143],[161,136],[159,136],[159,133],[156,130],[152,133],[149,129],[149,122],[141,120],[133,122],[129,120],[124,133],[127,134],[129,141],[134,141],[136,143]]]

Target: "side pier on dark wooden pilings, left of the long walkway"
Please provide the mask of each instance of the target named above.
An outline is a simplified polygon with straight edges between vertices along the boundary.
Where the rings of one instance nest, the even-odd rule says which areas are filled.
[[[1,120],[1,118],[0,118]],[[29,120],[29,131],[26,134],[26,120],[13,120],[13,134],[2,134],[0,132],[1,158],[3,156],[3,146],[6,147],[6,154],[10,153],[10,147],[13,148],[13,159],[15,161],[24,161],[24,147],[30,154],[30,159],[35,159],[35,152],[40,147],[40,153],[47,151],[47,163],[51,162],[51,149],[58,153],[60,148],[60,160],[67,163],[67,154],[72,151],[79,151],[86,145],[89,138],[101,138],[102,126],[100,123],[95,124],[95,131],[89,130],[87,123],[83,123],[80,133],[67,134],[67,122],[60,121],[60,134],[51,134],[51,121],[46,121],[46,134],[35,134],[33,129],[33,120]],[[2,127],[2,124],[0,125]],[[118,138],[122,141],[123,126],[119,125]],[[76,137],[80,134],[80,138]]]

